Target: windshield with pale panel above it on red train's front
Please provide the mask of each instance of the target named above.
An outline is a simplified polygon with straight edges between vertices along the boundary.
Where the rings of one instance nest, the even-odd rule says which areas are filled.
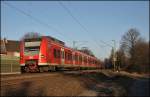
[[[38,39],[25,40],[25,55],[33,56],[39,54],[41,41]]]

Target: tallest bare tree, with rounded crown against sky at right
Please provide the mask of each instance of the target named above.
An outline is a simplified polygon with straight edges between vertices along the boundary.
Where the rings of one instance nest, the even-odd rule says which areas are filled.
[[[130,59],[130,65],[135,64],[135,44],[138,41],[140,33],[137,29],[131,28],[121,39],[121,49]]]

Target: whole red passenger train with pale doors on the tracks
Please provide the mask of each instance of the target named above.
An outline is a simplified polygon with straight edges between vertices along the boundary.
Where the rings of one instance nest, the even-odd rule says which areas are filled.
[[[57,68],[100,68],[100,60],[50,36],[23,39],[20,43],[22,72],[43,72]]]

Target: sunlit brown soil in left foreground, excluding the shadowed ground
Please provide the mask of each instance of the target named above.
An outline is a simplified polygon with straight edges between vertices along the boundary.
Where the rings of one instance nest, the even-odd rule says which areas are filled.
[[[82,90],[79,80],[63,74],[1,82],[1,96],[73,96]]]

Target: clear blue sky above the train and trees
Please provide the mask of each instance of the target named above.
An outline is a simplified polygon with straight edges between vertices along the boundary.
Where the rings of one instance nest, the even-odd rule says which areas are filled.
[[[6,1],[5,1],[6,2]],[[116,41],[130,28],[137,28],[149,40],[149,1],[61,1],[88,30],[86,32],[58,1],[7,1],[18,9],[50,25],[44,26],[1,1],[1,37],[19,40],[26,32],[39,32],[63,40],[67,46],[77,42],[103,59]],[[56,29],[56,30],[55,30]],[[82,41],[87,41],[82,43]]]

